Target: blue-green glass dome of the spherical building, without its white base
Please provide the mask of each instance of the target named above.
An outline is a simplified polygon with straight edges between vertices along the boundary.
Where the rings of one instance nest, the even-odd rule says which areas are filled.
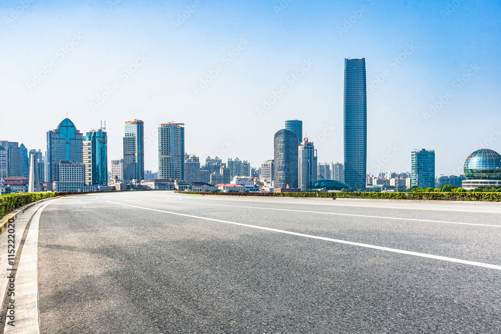
[[[501,180],[501,154],[482,148],[464,162],[466,180]]]

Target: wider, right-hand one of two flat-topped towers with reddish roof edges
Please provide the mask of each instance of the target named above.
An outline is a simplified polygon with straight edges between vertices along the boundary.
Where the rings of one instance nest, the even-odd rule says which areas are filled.
[[[158,178],[184,180],[184,123],[158,126]]]

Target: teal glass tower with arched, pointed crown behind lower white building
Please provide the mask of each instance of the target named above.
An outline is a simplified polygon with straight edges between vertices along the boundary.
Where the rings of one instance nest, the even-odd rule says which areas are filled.
[[[60,161],[82,163],[83,137],[69,118],[61,121],[57,129],[47,132],[47,182],[59,181]]]

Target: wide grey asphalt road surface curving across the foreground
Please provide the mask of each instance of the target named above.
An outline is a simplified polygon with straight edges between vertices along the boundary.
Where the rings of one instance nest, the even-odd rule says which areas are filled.
[[[500,245],[499,204],[65,197],[40,218],[40,332],[501,332]]]

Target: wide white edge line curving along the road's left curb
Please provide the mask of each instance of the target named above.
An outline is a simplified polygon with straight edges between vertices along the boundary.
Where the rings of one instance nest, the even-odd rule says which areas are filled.
[[[54,200],[47,202],[35,213],[26,236],[23,253],[19,260],[18,272],[16,274],[16,322],[15,326],[6,323],[4,333],[40,333],[38,322],[38,226],[40,216],[47,205]]]

